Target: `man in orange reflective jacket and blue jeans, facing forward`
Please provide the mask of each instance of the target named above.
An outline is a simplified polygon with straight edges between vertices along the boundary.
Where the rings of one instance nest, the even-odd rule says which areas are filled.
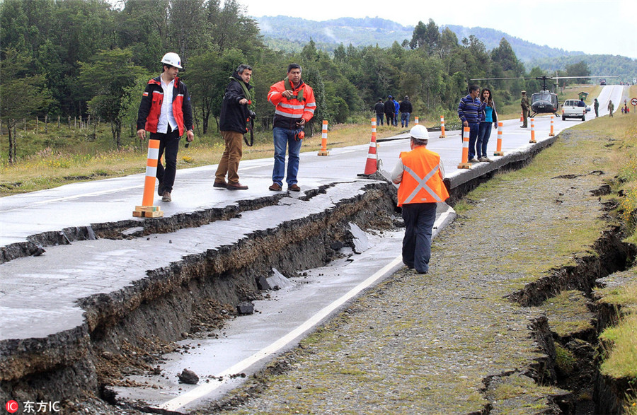
[[[275,146],[275,165],[272,169],[272,186],[275,192],[282,189],[285,174],[285,151],[289,148],[287,160],[287,189],[299,192],[297,185],[301,143],[305,135],[304,127],[314,117],[316,101],[314,90],[301,79],[301,66],[289,64],[287,78],[270,86],[268,101],[276,107],[272,136]]]

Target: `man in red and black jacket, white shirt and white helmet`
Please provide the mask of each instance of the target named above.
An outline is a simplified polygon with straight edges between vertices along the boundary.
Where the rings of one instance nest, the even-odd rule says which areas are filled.
[[[159,140],[159,162],[157,163],[157,193],[161,201],[171,201],[171,192],[177,173],[179,139],[186,132],[188,142],[195,139],[193,133],[193,109],[190,106],[188,88],[177,77],[181,67],[179,55],[168,52],[161,59],[163,71],[160,76],[148,81],[142,103],[137,112],[137,136]],[[161,155],[166,153],[166,168],[161,165]]]

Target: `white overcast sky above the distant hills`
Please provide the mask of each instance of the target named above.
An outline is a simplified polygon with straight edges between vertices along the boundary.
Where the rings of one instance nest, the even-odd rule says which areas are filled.
[[[313,21],[380,17],[405,26],[502,30],[537,45],[637,59],[636,0],[237,0],[251,17],[292,16]]]

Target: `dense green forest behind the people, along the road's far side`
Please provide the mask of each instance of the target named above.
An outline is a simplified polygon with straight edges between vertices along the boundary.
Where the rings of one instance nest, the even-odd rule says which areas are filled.
[[[314,125],[367,115],[388,95],[409,95],[421,117],[452,117],[471,78],[545,74],[539,67],[527,72],[504,37],[487,49],[478,37],[459,40],[432,20],[421,21],[411,39],[389,47],[340,43],[326,52],[310,40],[300,51],[283,52],[265,45],[258,23],[235,0],[125,0],[123,5],[113,8],[105,0],[0,4],[0,116],[9,141],[25,118],[92,117],[110,124],[120,148],[122,131],[129,134],[126,127],[137,117],[144,86],[159,75],[166,52],[177,52],[183,61],[180,77],[190,91],[200,134],[217,131],[224,88],[241,63],[254,68],[253,110],[257,128],[264,130],[274,113],[266,95],[285,77],[290,62],[303,66],[304,81],[315,90]],[[590,70],[585,62],[573,62],[558,74],[589,75]],[[520,90],[539,90],[541,83],[493,81],[488,86],[506,105],[519,99]],[[12,156],[15,151],[9,151],[9,160]]]

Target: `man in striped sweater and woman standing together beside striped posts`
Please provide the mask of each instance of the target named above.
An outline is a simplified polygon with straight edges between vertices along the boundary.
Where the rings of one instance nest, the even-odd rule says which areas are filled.
[[[469,86],[469,94],[458,104],[458,117],[463,127],[469,127],[469,163],[488,162],[487,144],[491,126],[498,128],[498,112],[489,88]]]

